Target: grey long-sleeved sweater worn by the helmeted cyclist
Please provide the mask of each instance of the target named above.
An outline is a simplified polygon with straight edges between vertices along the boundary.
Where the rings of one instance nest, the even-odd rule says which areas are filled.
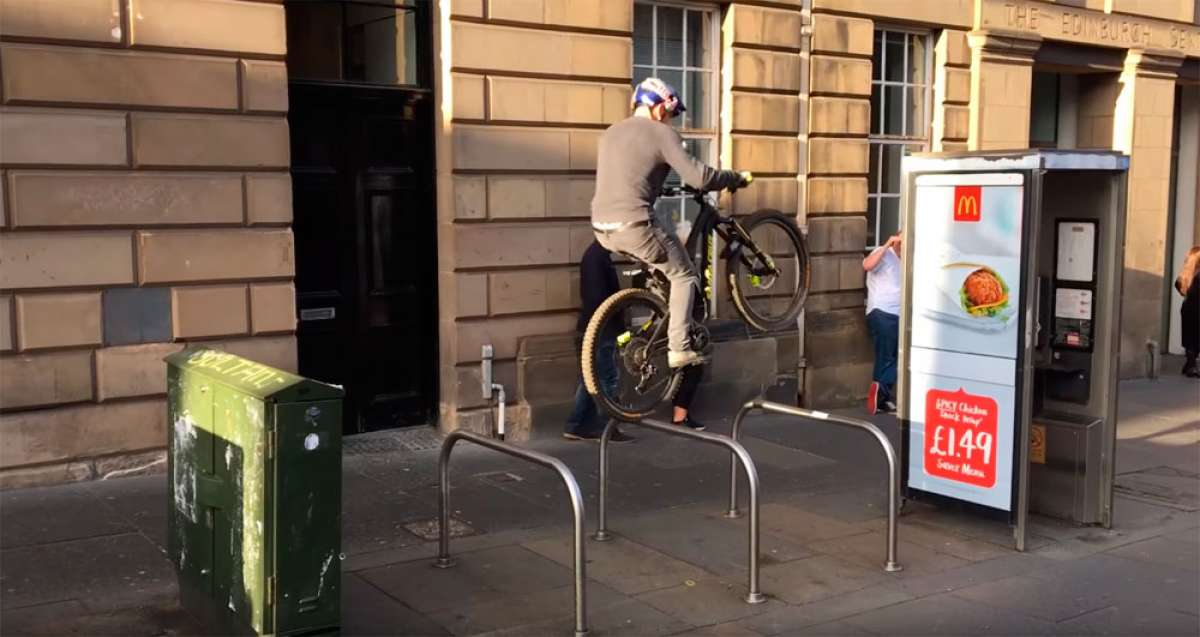
[[[646,220],[671,168],[684,184],[706,191],[727,188],[740,180],[733,170],[710,168],[689,155],[670,124],[632,116],[600,136],[592,223]]]

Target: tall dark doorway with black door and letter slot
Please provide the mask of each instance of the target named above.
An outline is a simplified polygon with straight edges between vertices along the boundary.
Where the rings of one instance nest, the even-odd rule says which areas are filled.
[[[300,373],[346,387],[346,433],[437,405],[427,2],[286,5]]]

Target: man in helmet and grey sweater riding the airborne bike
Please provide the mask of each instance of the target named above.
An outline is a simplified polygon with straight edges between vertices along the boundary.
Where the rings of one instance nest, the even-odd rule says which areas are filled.
[[[685,110],[683,101],[661,79],[647,78],[638,84],[630,108],[631,116],[600,136],[592,228],[605,248],[644,263],[671,282],[667,365],[700,365],[703,355],[692,349],[689,337],[700,277],[671,220],[655,217],[654,200],[671,169],[684,184],[704,191],[738,188],[749,180],[688,154],[683,138],[670,125],[671,118]]]

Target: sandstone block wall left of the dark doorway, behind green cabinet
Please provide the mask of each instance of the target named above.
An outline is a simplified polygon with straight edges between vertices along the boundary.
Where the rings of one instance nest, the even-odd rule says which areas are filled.
[[[295,368],[282,2],[0,0],[0,485],[161,462],[162,357]]]

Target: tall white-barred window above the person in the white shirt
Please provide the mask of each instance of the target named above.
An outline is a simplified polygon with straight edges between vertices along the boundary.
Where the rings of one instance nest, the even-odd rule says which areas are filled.
[[[900,229],[900,158],[929,146],[929,35],[876,29],[872,62],[868,247]]]

